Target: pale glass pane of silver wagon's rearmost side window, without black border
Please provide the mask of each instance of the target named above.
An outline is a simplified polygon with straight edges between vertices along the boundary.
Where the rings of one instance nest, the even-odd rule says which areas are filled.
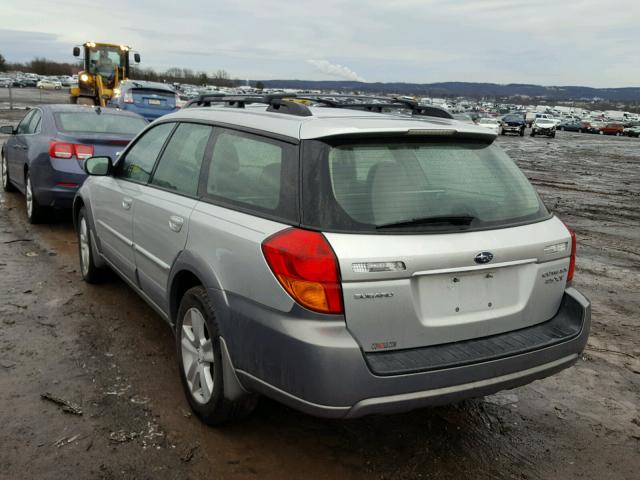
[[[222,131],[213,147],[207,193],[275,211],[280,204],[284,148],[253,135]]]

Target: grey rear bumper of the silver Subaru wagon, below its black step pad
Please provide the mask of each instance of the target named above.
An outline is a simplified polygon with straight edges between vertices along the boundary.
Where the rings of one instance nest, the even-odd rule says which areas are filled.
[[[570,317],[577,328],[559,333],[554,342],[502,357],[380,375],[372,371],[344,321],[304,319],[228,298],[232,319],[222,334],[244,388],[331,418],[451,403],[547,377],[579,358],[591,323],[589,301],[568,288],[556,317]]]

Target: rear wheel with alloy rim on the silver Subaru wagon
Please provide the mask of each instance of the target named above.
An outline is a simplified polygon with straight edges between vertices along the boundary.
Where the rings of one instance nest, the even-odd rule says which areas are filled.
[[[233,401],[224,396],[220,332],[204,287],[187,290],[180,301],[176,350],[187,401],[200,420],[208,425],[222,425],[253,411],[255,396]]]

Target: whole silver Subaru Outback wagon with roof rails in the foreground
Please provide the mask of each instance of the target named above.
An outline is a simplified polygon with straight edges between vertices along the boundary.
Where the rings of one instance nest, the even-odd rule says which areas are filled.
[[[204,422],[259,394],[323,417],[401,412],[578,359],[575,235],[495,134],[401,106],[201,98],[117,160],[86,160],[82,276],[112,269],[174,328]]]

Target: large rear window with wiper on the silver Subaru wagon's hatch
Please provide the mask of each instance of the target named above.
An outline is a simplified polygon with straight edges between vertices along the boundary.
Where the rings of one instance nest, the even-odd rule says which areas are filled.
[[[498,228],[549,215],[524,174],[492,144],[439,139],[310,143],[313,161],[303,190],[303,222],[310,227],[442,232]]]

